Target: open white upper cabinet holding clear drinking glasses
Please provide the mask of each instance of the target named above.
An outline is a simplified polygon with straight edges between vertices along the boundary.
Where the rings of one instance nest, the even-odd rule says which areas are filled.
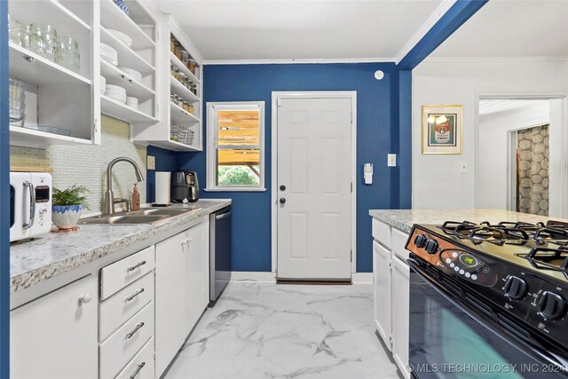
[[[10,88],[12,145],[100,143],[95,4],[10,1],[10,78],[18,82]]]

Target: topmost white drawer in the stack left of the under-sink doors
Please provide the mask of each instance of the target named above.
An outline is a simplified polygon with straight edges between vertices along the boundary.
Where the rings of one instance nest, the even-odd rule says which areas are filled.
[[[100,300],[154,270],[154,245],[100,270]]]

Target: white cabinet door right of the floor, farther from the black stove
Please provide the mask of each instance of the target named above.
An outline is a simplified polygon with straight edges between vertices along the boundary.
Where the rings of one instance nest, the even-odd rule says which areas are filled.
[[[391,272],[390,250],[384,249],[377,241],[373,241],[373,282],[375,323],[384,343],[391,349]]]

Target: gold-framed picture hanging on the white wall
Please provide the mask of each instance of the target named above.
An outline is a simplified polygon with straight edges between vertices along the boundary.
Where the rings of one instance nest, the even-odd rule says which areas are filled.
[[[461,106],[422,106],[422,154],[461,154]]]

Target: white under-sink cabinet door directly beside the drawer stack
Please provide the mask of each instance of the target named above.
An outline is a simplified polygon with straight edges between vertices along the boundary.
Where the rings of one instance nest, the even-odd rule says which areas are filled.
[[[156,244],[155,349],[160,377],[187,336],[185,249],[188,232]]]

